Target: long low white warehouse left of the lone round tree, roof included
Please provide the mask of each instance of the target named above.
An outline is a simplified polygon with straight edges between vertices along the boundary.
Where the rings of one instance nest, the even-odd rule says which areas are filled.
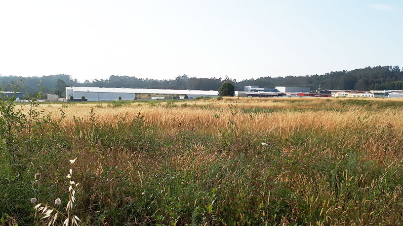
[[[183,99],[196,97],[218,97],[218,91],[204,90],[167,90],[167,89],[132,89],[132,88],[108,88],[108,87],[66,87],[66,99],[81,99],[87,101],[104,100],[134,100],[134,99],[170,99],[179,97]],[[158,97],[158,98],[155,98]],[[162,98],[164,97],[164,98]]]

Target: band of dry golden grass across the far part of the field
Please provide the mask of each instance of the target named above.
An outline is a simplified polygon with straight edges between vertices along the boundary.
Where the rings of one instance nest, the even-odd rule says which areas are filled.
[[[62,108],[66,112],[63,126],[73,123],[73,116],[87,119],[89,111],[94,109],[98,123],[118,122],[119,117],[134,119],[138,113],[144,116],[146,125],[155,125],[166,129],[169,133],[182,130],[211,131],[227,127],[230,120],[239,129],[251,132],[270,132],[288,136],[293,132],[306,129],[322,129],[323,131],[343,130],[354,124],[366,124],[384,127],[393,125],[396,130],[403,130],[403,111],[401,107],[383,108],[368,111],[366,107],[357,105],[340,105],[340,101],[352,98],[224,98],[223,101],[197,100],[174,102],[176,107],[167,107],[165,102],[155,106],[146,103],[130,103],[122,107],[108,107],[107,103],[77,103]],[[354,98],[364,99],[364,98]],[[298,102],[292,102],[298,101]],[[403,99],[371,99],[375,103],[399,101]],[[182,106],[186,103],[187,106]],[[231,112],[230,105],[235,107],[236,114]],[[199,107],[198,107],[199,106]],[[201,107],[203,106],[203,107]],[[320,106],[321,109],[316,109]],[[324,106],[324,107],[323,107]],[[402,105],[403,106],[403,105]],[[27,105],[21,105],[26,108]],[[59,117],[61,104],[41,104],[40,108],[50,112],[53,118]],[[273,112],[245,112],[242,109],[272,109]],[[298,111],[295,109],[303,109]],[[327,110],[325,110],[327,109]],[[332,110],[335,109],[335,110]],[[337,111],[340,110],[340,111]],[[119,117],[117,117],[119,116]]]

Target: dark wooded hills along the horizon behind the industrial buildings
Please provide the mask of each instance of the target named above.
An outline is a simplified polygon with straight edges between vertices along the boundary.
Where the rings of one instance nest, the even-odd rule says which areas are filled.
[[[243,91],[244,86],[259,86],[274,88],[275,86],[310,87],[318,89],[337,90],[384,90],[403,89],[403,70],[399,66],[375,66],[355,69],[351,71],[332,71],[323,75],[260,77],[236,81],[228,77],[196,78],[188,75],[179,75],[175,79],[142,79],[130,76],[111,75],[109,79],[86,80],[80,83],[70,75],[58,74],[42,77],[0,76],[0,84],[5,90],[9,85],[20,85],[20,92],[34,93],[43,87],[43,93],[58,94],[63,97],[66,86],[94,86],[94,87],[125,87],[149,89],[191,89],[191,90],[218,90],[223,82],[230,81],[237,91]],[[40,84],[40,85],[38,85]]]

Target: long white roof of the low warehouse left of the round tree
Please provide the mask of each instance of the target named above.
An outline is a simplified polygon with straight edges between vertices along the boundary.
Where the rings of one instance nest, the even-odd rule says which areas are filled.
[[[206,90],[167,90],[167,89],[133,89],[133,88],[110,88],[110,87],[66,87],[66,90],[75,92],[94,93],[129,93],[129,94],[185,94],[185,95],[210,95],[218,96],[218,91]]]

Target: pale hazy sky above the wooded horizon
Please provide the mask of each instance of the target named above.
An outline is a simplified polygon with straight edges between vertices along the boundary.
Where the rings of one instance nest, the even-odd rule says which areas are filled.
[[[173,79],[403,66],[401,0],[0,0],[0,74]]]

